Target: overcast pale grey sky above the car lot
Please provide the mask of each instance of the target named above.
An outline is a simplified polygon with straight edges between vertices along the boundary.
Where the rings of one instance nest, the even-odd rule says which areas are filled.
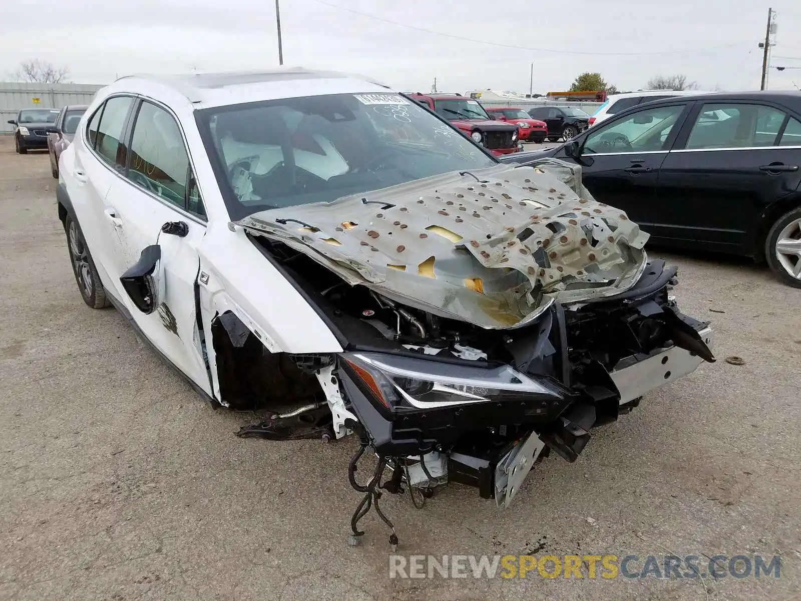
[[[772,65],[801,67],[799,0],[281,0],[284,64],[408,91],[429,91],[437,77],[440,91],[525,92],[532,62],[540,93],[570,87],[582,71],[621,90],[659,74],[687,75],[702,89],[758,89],[768,6],[779,13]],[[0,0],[0,79],[28,58],[68,67],[75,83],[270,68],[275,18],[272,0]],[[654,54],[662,52],[673,54]],[[771,89],[801,87],[801,68],[769,77]]]

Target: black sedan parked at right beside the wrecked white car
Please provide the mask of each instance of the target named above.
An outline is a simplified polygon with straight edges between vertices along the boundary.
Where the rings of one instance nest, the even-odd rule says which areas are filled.
[[[632,107],[541,156],[665,247],[765,259],[801,288],[801,93],[680,96]]]

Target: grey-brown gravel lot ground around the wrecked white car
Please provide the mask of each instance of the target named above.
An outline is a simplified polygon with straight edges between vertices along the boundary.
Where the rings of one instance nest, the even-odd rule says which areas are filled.
[[[423,510],[392,495],[384,510],[407,555],[780,554],[779,579],[389,579],[374,514],[362,546],[346,543],[356,442],[235,438],[252,416],[212,410],[119,313],[83,304],[47,156],[10,142],[0,599],[801,597],[801,291],[762,265],[667,256],[682,309],[714,321],[719,359],[745,365],[703,364],[650,394],[574,464],[546,459],[509,510],[457,485]]]

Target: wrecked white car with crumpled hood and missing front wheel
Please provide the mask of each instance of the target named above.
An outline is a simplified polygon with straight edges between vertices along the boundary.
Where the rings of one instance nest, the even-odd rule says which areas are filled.
[[[352,541],[380,490],[419,505],[462,482],[508,506],[549,451],[573,462],[594,426],[714,361],[675,268],[580,167],[498,163],[364,79],[119,79],[59,178],[87,305],[211,403],[270,411],[242,436],[360,438]]]

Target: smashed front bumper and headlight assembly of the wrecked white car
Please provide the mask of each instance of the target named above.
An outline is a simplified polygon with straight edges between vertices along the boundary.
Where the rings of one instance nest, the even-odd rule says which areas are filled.
[[[714,361],[710,325],[682,315],[668,295],[675,272],[654,261],[618,296],[556,304],[536,326],[540,338],[505,365],[342,353],[345,425],[393,466],[387,490],[430,495],[459,482],[508,507],[550,451],[574,462],[594,427]]]

